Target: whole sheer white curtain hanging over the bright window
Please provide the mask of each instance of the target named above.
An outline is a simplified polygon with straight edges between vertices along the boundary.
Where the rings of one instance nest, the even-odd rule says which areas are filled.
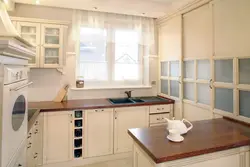
[[[72,20],[77,76],[86,86],[148,85],[144,57],[155,45],[154,19],[75,10]]]

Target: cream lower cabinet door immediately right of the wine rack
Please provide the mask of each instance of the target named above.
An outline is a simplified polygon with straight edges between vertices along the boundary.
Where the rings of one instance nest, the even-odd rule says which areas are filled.
[[[113,154],[113,109],[85,111],[85,157]]]

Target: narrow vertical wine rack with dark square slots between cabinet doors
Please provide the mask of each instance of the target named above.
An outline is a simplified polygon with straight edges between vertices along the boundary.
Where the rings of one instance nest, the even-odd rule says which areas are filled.
[[[83,121],[84,112],[82,110],[74,111],[74,158],[83,157]]]

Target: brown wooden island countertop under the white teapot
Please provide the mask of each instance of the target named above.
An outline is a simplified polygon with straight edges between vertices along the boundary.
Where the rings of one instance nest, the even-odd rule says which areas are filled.
[[[166,126],[129,129],[129,135],[153,159],[162,163],[250,145],[250,127],[220,118],[193,122],[181,143],[169,141]]]

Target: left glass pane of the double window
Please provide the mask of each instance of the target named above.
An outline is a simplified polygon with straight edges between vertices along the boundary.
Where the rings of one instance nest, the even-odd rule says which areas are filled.
[[[99,28],[81,28],[79,73],[86,81],[106,81],[108,61],[107,32]]]

